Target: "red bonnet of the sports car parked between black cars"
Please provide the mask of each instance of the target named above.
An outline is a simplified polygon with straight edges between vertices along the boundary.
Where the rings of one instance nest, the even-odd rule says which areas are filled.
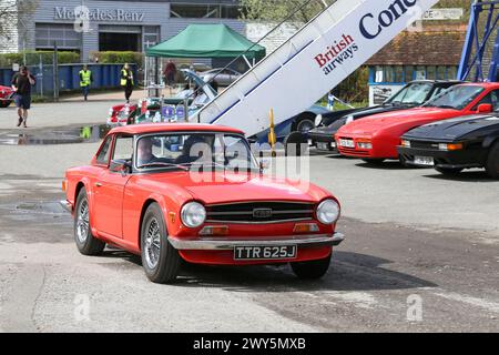
[[[344,125],[338,133],[371,134],[380,129],[399,124],[426,123],[428,120],[445,120],[460,115],[461,112],[451,109],[416,108],[395,112],[387,112],[364,118]],[[421,123],[421,124],[422,124]]]

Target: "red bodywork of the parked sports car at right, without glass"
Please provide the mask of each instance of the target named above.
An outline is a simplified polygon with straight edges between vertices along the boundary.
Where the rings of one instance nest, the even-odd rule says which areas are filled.
[[[491,91],[499,89],[499,83],[470,83],[485,90],[462,110],[431,106],[375,114],[344,125],[335,134],[342,155],[363,159],[398,159],[397,146],[406,132],[435,121],[455,119],[477,113],[477,105]],[[353,140],[355,148],[340,146],[339,140]],[[359,149],[359,142],[371,143],[373,149]]]

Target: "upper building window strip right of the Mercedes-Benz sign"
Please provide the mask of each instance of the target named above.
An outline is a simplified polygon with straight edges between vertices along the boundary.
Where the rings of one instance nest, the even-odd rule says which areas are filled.
[[[170,13],[174,18],[238,19],[240,7],[231,4],[172,3]]]

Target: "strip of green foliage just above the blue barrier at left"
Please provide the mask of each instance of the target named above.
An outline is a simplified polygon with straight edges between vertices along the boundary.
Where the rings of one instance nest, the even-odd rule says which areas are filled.
[[[26,62],[24,62],[26,59]],[[26,51],[19,53],[1,53],[0,67],[12,67],[12,64],[27,64],[38,65],[40,59],[43,64],[52,64],[53,52],[52,51]],[[74,52],[58,52],[59,64],[70,64],[80,62],[80,54]]]

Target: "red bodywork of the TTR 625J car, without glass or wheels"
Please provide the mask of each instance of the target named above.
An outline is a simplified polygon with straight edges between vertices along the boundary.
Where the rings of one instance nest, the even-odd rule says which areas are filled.
[[[109,134],[145,134],[155,132],[222,132],[242,134],[241,131],[205,124],[140,124],[111,130]],[[99,150],[100,151],[100,150]],[[169,236],[198,240],[204,226],[227,225],[227,223],[205,222],[197,229],[189,229],[181,221],[182,206],[191,201],[204,205],[252,201],[306,202],[314,206],[325,199],[336,199],[327,191],[313,184],[303,184],[263,178],[259,174],[215,172],[205,173],[215,178],[214,182],[194,180],[190,172],[171,171],[142,174],[111,173],[106,165],[96,163],[96,155],[86,166],[69,169],[65,174],[67,201],[75,205],[79,189],[85,189],[90,205],[92,234],[106,243],[118,245],[131,253],[140,254],[140,227],[143,212],[150,202],[155,202],[163,211]],[[204,173],[201,173],[204,174]],[[214,176],[216,174],[216,176]],[[96,189],[96,184],[102,184]],[[310,221],[318,225],[317,235],[333,235],[336,225],[325,225],[315,216]],[[299,236],[294,231],[296,222],[273,224],[228,224],[227,239],[231,240],[279,240]],[[294,261],[318,260],[328,256],[332,246],[298,248]],[[231,251],[180,251],[181,256],[192,263],[203,264],[264,264],[265,261],[234,261]],[[288,262],[279,260],[278,262]]]

